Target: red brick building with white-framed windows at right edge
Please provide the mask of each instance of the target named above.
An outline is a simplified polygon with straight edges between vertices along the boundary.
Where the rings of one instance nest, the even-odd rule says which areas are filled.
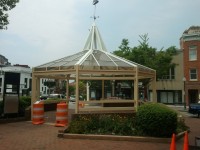
[[[200,26],[191,26],[180,38],[183,50],[184,100],[186,104],[200,100]]]

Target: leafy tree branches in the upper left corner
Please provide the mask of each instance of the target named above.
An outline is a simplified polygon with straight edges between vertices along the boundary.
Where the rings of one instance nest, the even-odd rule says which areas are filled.
[[[0,29],[7,29],[9,24],[7,11],[13,9],[19,0],[1,0],[0,1]]]

